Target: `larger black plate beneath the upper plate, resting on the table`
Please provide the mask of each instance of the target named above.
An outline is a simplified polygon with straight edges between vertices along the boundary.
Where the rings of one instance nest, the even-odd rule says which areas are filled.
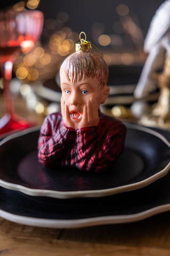
[[[32,197],[0,187],[0,216],[23,225],[75,228],[145,219],[170,210],[170,173],[151,185],[101,198]]]

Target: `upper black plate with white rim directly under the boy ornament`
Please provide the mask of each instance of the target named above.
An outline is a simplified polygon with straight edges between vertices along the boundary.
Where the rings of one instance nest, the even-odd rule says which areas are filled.
[[[168,172],[169,143],[145,127],[126,126],[124,152],[110,172],[102,174],[60,166],[46,169],[37,158],[39,129],[11,135],[1,142],[0,185],[56,198],[106,196],[144,187]]]

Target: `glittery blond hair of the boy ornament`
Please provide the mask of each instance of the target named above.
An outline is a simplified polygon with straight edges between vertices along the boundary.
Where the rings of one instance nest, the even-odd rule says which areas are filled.
[[[72,82],[92,77],[97,79],[101,86],[107,85],[108,66],[97,52],[74,52],[63,61],[60,70],[64,70],[67,79]]]

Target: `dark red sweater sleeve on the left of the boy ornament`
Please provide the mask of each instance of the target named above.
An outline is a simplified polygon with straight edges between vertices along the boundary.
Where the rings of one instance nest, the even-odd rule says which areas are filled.
[[[60,119],[60,118],[58,118]],[[38,159],[44,166],[61,162],[66,152],[75,143],[75,130],[60,125],[60,120],[48,116],[41,126],[38,139]]]

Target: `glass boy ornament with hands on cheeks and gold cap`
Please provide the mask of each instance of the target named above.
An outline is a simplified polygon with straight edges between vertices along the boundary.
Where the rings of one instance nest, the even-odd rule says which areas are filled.
[[[126,128],[99,110],[109,94],[108,67],[100,53],[91,51],[86,34],[85,39],[81,34],[77,51],[61,65],[61,113],[45,118],[38,158],[47,167],[105,172],[123,150]]]

